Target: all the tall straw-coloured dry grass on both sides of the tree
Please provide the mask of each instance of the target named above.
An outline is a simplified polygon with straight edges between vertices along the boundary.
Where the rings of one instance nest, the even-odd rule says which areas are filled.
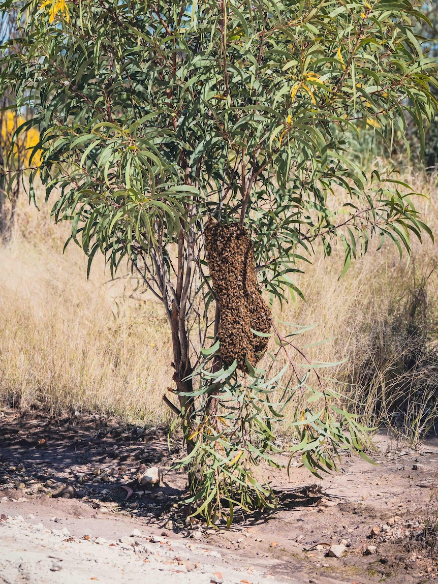
[[[438,232],[434,183],[423,176],[409,180],[429,195],[419,206]],[[102,260],[87,281],[83,252],[71,244],[61,253],[67,232],[67,226],[51,224],[47,207],[39,213],[22,200],[15,239],[0,248],[0,402],[167,423],[161,396],[171,385],[172,353],[161,306],[133,300],[129,278],[110,282]],[[302,338],[312,359],[349,357],[326,371],[326,383],[349,397],[350,409],[366,421],[392,424],[401,412],[399,427],[407,434],[406,425],[416,424],[421,433],[437,417],[431,406],[438,402],[437,260],[436,246],[427,240],[414,245],[411,263],[400,261],[388,244],[357,260],[338,281],[342,258],[317,259],[298,280],[307,302],[291,304],[281,315],[317,325]],[[411,418],[409,408],[416,412]]]

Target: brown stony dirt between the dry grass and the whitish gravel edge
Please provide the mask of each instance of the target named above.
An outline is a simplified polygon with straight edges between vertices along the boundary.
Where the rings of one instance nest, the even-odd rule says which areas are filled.
[[[298,462],[290,478],[286,471],[273,472],[279,507],[215,530],[188,519],[179,505],[186,479],[171,468],[179,447],[171,443],[169,451],[164,430],[98,416],[53,419],[4,410],[0,512],[32,513],[70,531],[86,524],[88,533],[94,529],[102,537],[113,533],[114,522],[138,524],[151,533],[165,529],[236,565],[266,565],[267,576],[284,582],[292,577],[319,584],[438,581],[435,538],[428,530],[438,519],[436,442],[425,442],[418,451],[386,437],[376,443],[379,464],[346,456],[340,472],[322,481]],[[145,489],[137,475],[152,465],[163,471],[162,483]],[[75,500],[56,498],[65,486],[72,487]],[[342,555],[328,557],[329,547],[339,543],[345,546]]]

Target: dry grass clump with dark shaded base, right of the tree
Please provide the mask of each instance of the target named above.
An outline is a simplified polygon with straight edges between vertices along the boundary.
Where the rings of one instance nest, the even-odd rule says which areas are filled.
[[[437,233],[436,180],[406,181],[429,196],[418,210]],[[438,419],[438,253],[427,236],[423,245],[412,243],[410,261],[388,244],[352,263],[339,281],[342,252],[318,260],[298,280],[307,303],[291,305],[282,318],[317,325],[303,335],[307,356],[346,359],[325,370],[325,383],[342,392],[350,411],[415,443]]]

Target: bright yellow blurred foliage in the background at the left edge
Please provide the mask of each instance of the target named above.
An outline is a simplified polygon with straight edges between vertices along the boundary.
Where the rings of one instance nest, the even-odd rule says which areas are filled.
[[[11,150],[13,134],[24,122],[25,120],[12,110],[3,112],[0,116],[1,146],[5,153]],[[18,159],[17,163],[20,168],[29,168],[29,159],[32,154],[32,149],[38,144],[39,140],[39,131],[34,127],[31,127],[26,132],[18,135],[13,146],[13,152]],[[40,164],[41,151],[39,150],[34,154],[31,166],[40,166]]]

